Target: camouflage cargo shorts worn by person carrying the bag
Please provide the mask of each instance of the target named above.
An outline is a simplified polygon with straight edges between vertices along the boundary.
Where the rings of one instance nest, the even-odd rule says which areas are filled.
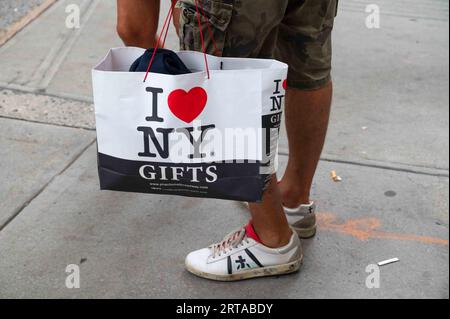
[[[275,58],[289,65],[288,85],[316,89],[330,80],[331,31],[338,0],[198,0],[206,51],[227,57]],[[195,0],[180,0],[180,46],[202,51]],[[205,20],[203,20],[205,22]]]

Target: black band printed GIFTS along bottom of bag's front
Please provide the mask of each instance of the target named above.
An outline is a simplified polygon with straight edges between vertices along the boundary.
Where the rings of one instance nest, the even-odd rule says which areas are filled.
[[[98,153],[103,190],[259,201],[259,162],[174,164],[131,161]]]

